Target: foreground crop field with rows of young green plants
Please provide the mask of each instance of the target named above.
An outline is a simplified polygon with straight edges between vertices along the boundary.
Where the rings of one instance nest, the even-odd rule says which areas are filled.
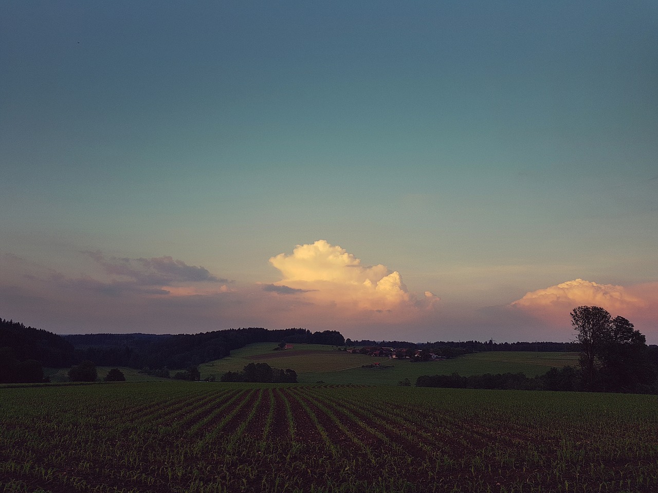
[[[1,492],[655,492],[658,398],[224,383],[0,388]]]

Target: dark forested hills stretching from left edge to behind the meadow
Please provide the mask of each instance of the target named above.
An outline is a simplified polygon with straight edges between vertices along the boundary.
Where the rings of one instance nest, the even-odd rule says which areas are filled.
[[[71,368],[72,381],[95,381],[96,365],[127,366],[151,375],[198,379],[199,364],[228,356],[253,342],[290,342],[342,346],[338,331],[268,330],[261,327],[197,334],[86,334],[59,336],[43,329],[0,319],[0,383],[44,380],[43,367]],[[117,375],[114,374],[113,377]]]

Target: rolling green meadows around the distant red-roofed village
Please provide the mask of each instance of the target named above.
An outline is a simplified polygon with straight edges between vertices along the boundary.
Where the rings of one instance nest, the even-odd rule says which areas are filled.
[[[232,351],[228,358],[202,364],[199,366],[201,378],[215,375],[219,379],[226,371],[240,371],[249,363],[263,362],[272,367],[295,370],[299,383],[397,385],[408,378],[413,385],[420,375],[449,375],[455,371],[464,376],[522,372],[534,377],[551,367],[578,363],[578,355],[567,352],[482,352],[453,360],[411,363],[409,360],[349,354],[320,344],[295,344],[291,350],[272,351],[275,345],[271,342],[250,344]],[[362,368],[374,362],[388,368]]]

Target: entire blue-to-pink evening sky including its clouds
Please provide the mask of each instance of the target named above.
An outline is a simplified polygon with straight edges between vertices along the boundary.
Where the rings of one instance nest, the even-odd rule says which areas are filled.
[[[655,1],[0,3],[0,317],[658,343]]]

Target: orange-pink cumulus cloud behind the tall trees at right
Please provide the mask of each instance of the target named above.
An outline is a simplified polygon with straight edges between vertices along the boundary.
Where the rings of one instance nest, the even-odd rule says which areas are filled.
[[[523,310],[555,325],[570,323],[569,314],[576,306],[601,306],[613,316],[620,315],[655,330],[658,325],[658,283],[624,287],[574,279],[530,291],[509,304],[509,308]]]

